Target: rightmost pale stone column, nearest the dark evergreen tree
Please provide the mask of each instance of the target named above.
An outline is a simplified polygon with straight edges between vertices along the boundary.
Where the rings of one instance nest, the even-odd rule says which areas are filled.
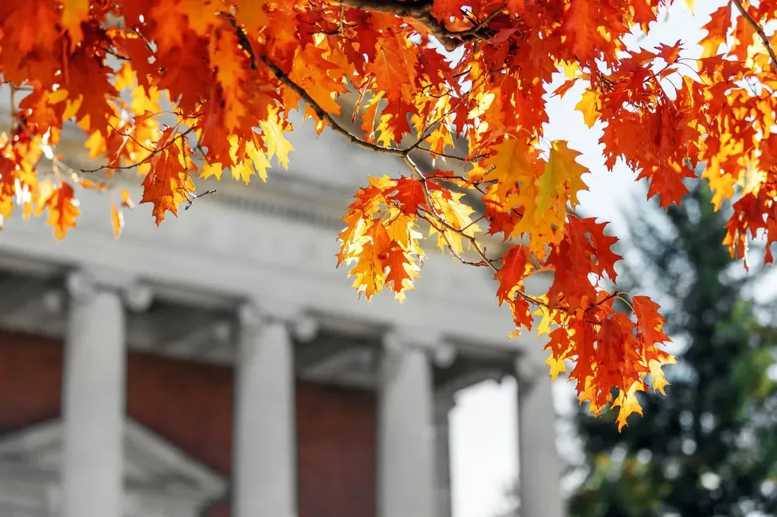
[[[516,361],[521,517],[565,517],[552,382],[536,346]]]

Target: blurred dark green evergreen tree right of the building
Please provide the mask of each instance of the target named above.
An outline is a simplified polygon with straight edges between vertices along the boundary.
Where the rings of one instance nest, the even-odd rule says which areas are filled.
[[[747,295],[764,279],[737,274],[721,245],[726,214],[710,200],[703,184],[681,208],[630,218],[618,286],[656,297],[680,366],[664,368],[667,395],[643,394],[644,415],[621,433],[615,411],[581,408],[587,473],[573,517],[777,512],[777,333]]]

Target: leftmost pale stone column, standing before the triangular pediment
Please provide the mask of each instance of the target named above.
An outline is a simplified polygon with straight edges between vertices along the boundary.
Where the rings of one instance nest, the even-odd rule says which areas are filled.
[[[67,278],[70,304],[61,467],[64,517],[118,517],[123,512],[124,303],[142,309],[151,298],[148,290],[125,288],[106,279],[100,281],[90,272],[72,272]]]

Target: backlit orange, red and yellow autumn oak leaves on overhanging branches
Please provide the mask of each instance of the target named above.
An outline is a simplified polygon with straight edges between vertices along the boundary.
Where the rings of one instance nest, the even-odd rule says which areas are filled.
[[[777,240],[777,62],[760,29],[777,17],[777,2],[726,2],[706,23],[699,59],[681,57],[679,41],[627,50],[623,36],[646,31],[671,3],[2,2],[0,78],[12,103],[0,133],[0,217],[17,207],[24,217],[47,211],[64,238],[79,216],[77,189],[112,193],[122,172],[143,178],[140,203],[160,224],[196,198],[198,177],[228,170],[249,182],[266,179],[272,159],[287,167],[288,116],[302,109],[316,131],[331,127],[409,167],[400,178],[370,178],[343,217],[338,264],[353,264],[360,293],[389,289],[402,300],[413,289],[423,221],[441,249],[493,269],[517,329],[542,317],[551,375],[572,359],[580,401],[595,413],[620,406],[622,426],[641,413],[636,392],[649,381],[663,392],[661,367],[675,359],[660,349],[669,338],[657,304],[630,297],[631,315],[613,306],[625,300],[604,286],[615,281],[616,239],[570,212],[587,169],[566,142],[543,137],[542,96],[553,76],[565,79],[553,95],[584,86],[577,109],[602,127],[608,167],[621,158],[669,206],[705,162],[716,206],[735,201],[726,237],[733,255],[743,257],[759,233]],[[339,122],[347,92],[357,94],[359,134]],[[54,152],[63,130],[76,127],[103,166],[84,170]],[[423,171],[413,159],[423,154],[462,162],[465,172]],[[126,193],[118,202],[131,206]],[[118,234],[116,201],[111,217]],[[507,242],[503,256],[486,255],[483,234]],[[524,282],[539,271],[553,272],[552,285],[528,296]]]

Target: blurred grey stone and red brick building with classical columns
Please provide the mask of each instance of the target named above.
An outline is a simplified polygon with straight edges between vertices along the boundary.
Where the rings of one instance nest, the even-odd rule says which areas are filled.
[[[506,338],[490,271],[433,249],[406,304],[358,300],[340,217],[403,165],[311,126],[288,171],[200,182],[218,192],[161,227],[139,206],[115,240],[109,195],[80,191],[61,243],[45,217],[5,221],[0,515],[449,517],[455,394],[504,376],[522,514],[562,515],[542,343]]]

